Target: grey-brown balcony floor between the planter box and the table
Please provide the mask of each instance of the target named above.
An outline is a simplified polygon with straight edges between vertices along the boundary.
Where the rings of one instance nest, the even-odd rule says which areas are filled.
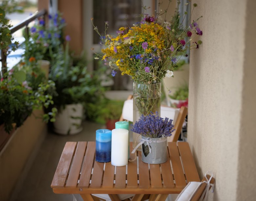
[[[104,128],[102,124],[83,122],[83,131],[76,135],[62,136],[48,133],[32,167],[24,180],[15,201],[70,201],[72,194],[55,194],[51,188],[53,175],[60,155],[67,141],[95,141],[95,131]],[[75,195],[77,201],[83,199]]]

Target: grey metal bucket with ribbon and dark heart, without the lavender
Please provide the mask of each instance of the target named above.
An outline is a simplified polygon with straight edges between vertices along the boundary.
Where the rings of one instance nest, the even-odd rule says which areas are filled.
[[[167,137],[150,138],[141,137],[142,144],[141,159],[144,163],[160,164],[167,161]]]

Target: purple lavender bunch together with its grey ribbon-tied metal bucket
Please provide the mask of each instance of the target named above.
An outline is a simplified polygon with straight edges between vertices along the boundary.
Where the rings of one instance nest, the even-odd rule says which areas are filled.
[[[142,161],[150,164],[160,164],[166,162],[167,137],[172,135],[174,131],[173,120],[161,118],[152,112],[144,116],[143,114],[138,121],[135,122],[131,131],[141,135],[141,142],[132,151],[142,145]]]

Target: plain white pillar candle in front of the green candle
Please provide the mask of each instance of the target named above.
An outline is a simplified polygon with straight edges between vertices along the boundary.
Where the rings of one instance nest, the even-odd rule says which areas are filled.
[[[128,133],[127,129],[112,130],[111,165],[125,166],[128,164]]]

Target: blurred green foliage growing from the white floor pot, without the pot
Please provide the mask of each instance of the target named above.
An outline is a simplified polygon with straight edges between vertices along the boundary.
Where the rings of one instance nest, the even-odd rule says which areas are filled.
[[[65,52],[62,48],[57,55],[49,74],[56,84],[58,95],[53,100],[59,109],[67,104],[81,103],[85,106],[86,103],[93,103],[104,92],[100,85],[101,71],[89,72],[85,55],[72,59],[67,51],[68,45],[67,42]]]

